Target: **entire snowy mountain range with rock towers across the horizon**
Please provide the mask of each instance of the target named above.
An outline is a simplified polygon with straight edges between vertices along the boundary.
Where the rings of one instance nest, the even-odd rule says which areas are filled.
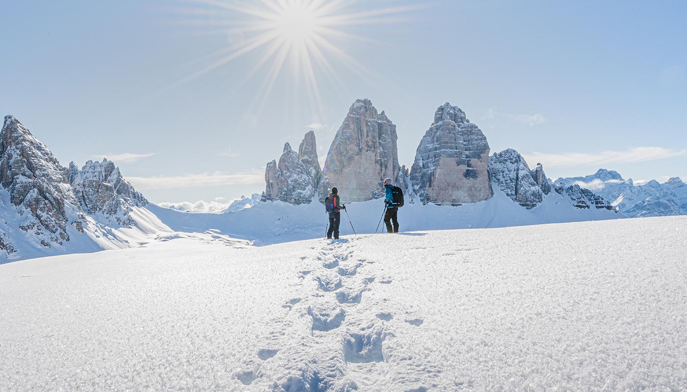
[[[0,131],[0,260],[141,246],[170,238],[269,244],[322,235],[318,200],[338,186],[342,200],[372,233],[381,184],[393,178],[405,193],[402,230],[504,227],[627,216],[687,214],[679,178],[635,186],[599,170],[578,178],[546,177],[521,154],[490,156],[484,133],[457,106],[444,104],[420,140],[413,165],[398,161],[396,126],[370,100],[350,106],[324,166],[315,133],[297,151],[286,143],[267,163],[265,192],[243,197],[221,214],[192,214],[149,203],[115,163],[63,167],[16,118]],[[183,209],[183,205],[176,206]],[[241,240],[236,240],[240,238]]]

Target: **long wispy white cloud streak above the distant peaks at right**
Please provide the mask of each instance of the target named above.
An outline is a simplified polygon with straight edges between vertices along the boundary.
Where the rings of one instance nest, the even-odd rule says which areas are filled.
[[[528,162],[541,162],[545,167],[570,168],[578,165],[605,165],[607,163],[633,163],[655,161],[678,157],[687,150],[670,150],[662,147],[638,147],[625,151],[601,151],[596,153],[566,152],[564,154],[547,154],[532,152],[525,154]]]

